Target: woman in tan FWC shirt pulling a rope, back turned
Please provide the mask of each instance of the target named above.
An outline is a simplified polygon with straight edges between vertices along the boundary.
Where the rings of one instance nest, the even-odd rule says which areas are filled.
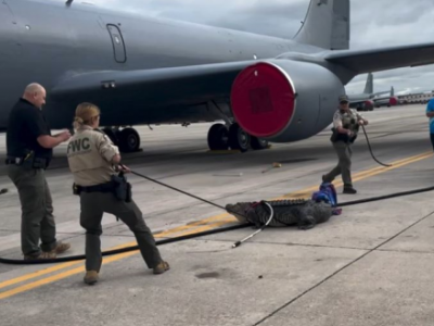
[[[80,197],[80,225],[86,229],[86,275],[84,281],[92,285],[99,280],[102,264],[101,221],[104,213],[120,218],[135,234],[140,252],[154,274],[169,269],[155,244],[155,239],[144,223],[142,212],[131,200],[116,196],[114,179],[120,164],[119,150],[110,138],[98,130],[100,109],[81,103],[76,109],[76,134],[67,147],[69,170],[74,175],[75,193]],[[119,165],[122,173],[129,170]]]

